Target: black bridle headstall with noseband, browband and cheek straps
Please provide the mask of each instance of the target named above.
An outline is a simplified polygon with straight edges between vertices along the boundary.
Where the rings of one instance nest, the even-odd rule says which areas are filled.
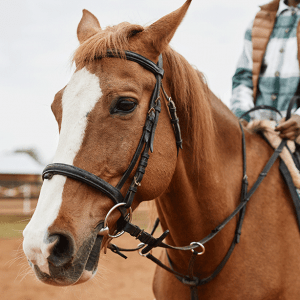
[[[161,111],[160,91],[162,87],[162,78],[164,76],[162,55],[159,56],[159,60],[156,65],[151,60],[145,58],[140,54],[130,52],[130,51],[125,51],[124,54],[127,60],[136,62],[146,70],[152,72],[155,75],[156,84],[151,96],[149,110],[147,113],[142,136],[140,138],[135,154],[127,170],[125,171],[122,178],[120,179],[119,183],[116,185],[116,187],[114,187],[108,182],[106,182],[105,180],[103,180],[102,178],[86,170],[80,169],[72,165],[63,164],[63,163],[53,163],[47,165],[42,174],[43,179],[51,179],[54,175],[59,174],[59,175],[67,176],[69,178],[81,181],[89,186],[94,187],[95,189],[101,191],[107,197],[109,197],[114,202],[115,205],[123,203],[124,205],[122,207],[118,206],[118,209],[121,211],[123,216],[125,216],[126,214],[126,209],[131,207],[132,201],[137,192],[137,188],[141,185],[141,181],[143,179],[143,176],[145,174],[145,169],[148,164],[149,150],[153,152],[154,135],[158,123],[159,113]],[[120,54],[118,51],[109,50],[107,51],[105,57],[120,58],[122,57],[122,54]],[[101,59],[101,58],[102,57],[97,57],[97,59]],[[179,127],[179,119],[177,118],[176,115],[176,107],[172,99],[167,97],[164,90],[163,90],[163,94],[168,101],[170,119],[176,137],[177,151],[179,151],[179,148],[182,148],[182,139],[181,139],[181,133]],[[135,165],[137,164],[139,157],[140,157],[140,161],[138,163],[136,173],[134,175],[134,178],[130,184],[130,187],[125,197],[123,197],[123,195],[121,194],[121,189],[124,186],[127,179],[129,178]]]

